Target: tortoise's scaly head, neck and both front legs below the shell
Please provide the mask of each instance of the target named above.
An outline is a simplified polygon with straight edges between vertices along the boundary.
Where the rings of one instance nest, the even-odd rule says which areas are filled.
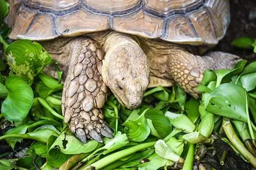
[[[150,75],[151,87],[172,86],[178,82],[198,98],[196,86],[206,69],[231,68],[239,60],[237,56],[222,52],[200,57],[187,45],[118,32],[58,39],[45,42],[44,46],[62,69],[69,65],[68,73],[65,72],[62,113],[71,131],[84,143],[87,138],[102,142],[101,136],[113,137],[101,110],[107,86],[129,109],[141,104]]]

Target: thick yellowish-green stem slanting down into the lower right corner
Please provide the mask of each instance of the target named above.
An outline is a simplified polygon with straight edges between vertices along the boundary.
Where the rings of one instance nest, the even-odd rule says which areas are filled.
[[[222,125],[224,132],[234,147],[254,166],[256,167],[256,158],[245,148],[243,142],[238,138],[236,132],[229,122],[229,119],[223,118],[223,125]]]

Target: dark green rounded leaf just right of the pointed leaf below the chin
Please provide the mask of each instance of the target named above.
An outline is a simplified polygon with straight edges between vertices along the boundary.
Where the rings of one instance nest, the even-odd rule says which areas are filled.
[[[152,125],[159,135],[157,137],[164,138],[170,132],[172,132],[172,125],[170,124],[168,118],[164,116],[162,111],[157,109],[148,109],[145,116],[146,118],[152,120]]]

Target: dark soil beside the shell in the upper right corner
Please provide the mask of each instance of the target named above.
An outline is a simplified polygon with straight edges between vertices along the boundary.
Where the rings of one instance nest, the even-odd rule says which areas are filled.
[[[237,37],[256,38],[256,17],[249,19],[249,13],[256,12],[256,0],[230,0],[229,2],[231,22],[225,37],[215,50],[238,55],[250,62],[255,61],[256,54],[252,50],[241,50],[233,47],[231,42]]]

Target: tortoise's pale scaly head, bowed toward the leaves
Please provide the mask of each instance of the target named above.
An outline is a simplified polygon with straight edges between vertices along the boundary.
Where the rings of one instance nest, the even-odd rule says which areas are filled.
[[[136,42],[119,42],[106,51],[101,74],[118,101],[134,109],[141,104],[150,71],[147,58]]]

